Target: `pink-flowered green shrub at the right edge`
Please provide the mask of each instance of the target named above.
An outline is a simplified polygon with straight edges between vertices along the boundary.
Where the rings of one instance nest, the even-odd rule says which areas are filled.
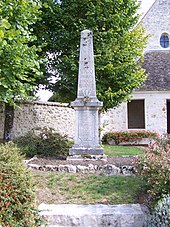
[[[153,202],[170,193],[170,140],[158,139],[149,146],[145,155],[137,161],[140,175],[147,181],[148,193]]]

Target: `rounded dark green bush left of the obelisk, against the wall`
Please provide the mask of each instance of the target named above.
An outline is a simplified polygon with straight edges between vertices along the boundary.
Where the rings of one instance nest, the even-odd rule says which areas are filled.
[[[67,156],[71,142],[52,128],[35,128],[14,142],[27,156]]]

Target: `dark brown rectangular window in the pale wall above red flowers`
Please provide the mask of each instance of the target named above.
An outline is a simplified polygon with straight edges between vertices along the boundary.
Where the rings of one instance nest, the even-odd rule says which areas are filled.
[[[144,100],[132,100],[128,102],[128,128],[145,128],[145,107]]]

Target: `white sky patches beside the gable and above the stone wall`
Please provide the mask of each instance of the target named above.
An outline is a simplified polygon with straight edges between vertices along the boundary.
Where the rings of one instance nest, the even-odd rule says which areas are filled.
[[[155,0],[141,0],[141,8],[139,12],[145,14],[154,2]],[[36,96],[39,97],[40,101],[47,101],[52,96],[52,93],[40,89]]]

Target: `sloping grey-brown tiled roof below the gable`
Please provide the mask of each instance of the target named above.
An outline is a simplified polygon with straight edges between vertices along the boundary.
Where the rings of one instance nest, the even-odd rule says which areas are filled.
[[[170,90],[170,51],[153,51],[144,55],[143,68],[148,74],[142,91]]]

